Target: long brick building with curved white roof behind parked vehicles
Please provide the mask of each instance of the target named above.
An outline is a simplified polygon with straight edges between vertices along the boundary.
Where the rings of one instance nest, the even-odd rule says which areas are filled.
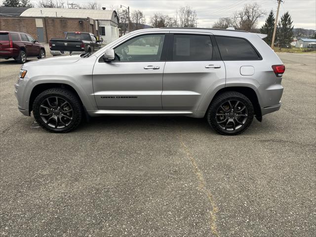
[[[0,7],[0,31],[21,31],[40,42],[64,38],[65,32],[90,32],[104,43],[118,39],[118,16],[112,10]]]

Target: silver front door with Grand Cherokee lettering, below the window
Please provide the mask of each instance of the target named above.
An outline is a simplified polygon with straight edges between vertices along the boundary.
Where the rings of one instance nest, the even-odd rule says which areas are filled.
[[[94,97],[103,110],[161,110],[165,62],[96,62]],[[156,66],[158,69],[144,69]]]

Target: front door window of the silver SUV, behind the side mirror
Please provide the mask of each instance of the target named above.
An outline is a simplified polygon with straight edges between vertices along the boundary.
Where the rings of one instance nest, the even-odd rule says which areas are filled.
[[[114,49],[116,61],[159,61],[164,35],[135,37]]]

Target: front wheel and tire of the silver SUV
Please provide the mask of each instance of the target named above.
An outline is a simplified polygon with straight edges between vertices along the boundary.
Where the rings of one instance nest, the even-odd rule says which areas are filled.
[[[80,124],[82,106],[78,96],[73,92],[64,88],[51,88],[35,98],[33,115],[47,131],[66,133]]]

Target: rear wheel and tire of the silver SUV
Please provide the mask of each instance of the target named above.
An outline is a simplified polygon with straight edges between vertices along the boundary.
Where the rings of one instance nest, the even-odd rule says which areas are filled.
[[[237,135],[244,132],[254,117],[251,101],[237,91],[217,95],[211,102],[206,119],[215,131],[223,135]]]

